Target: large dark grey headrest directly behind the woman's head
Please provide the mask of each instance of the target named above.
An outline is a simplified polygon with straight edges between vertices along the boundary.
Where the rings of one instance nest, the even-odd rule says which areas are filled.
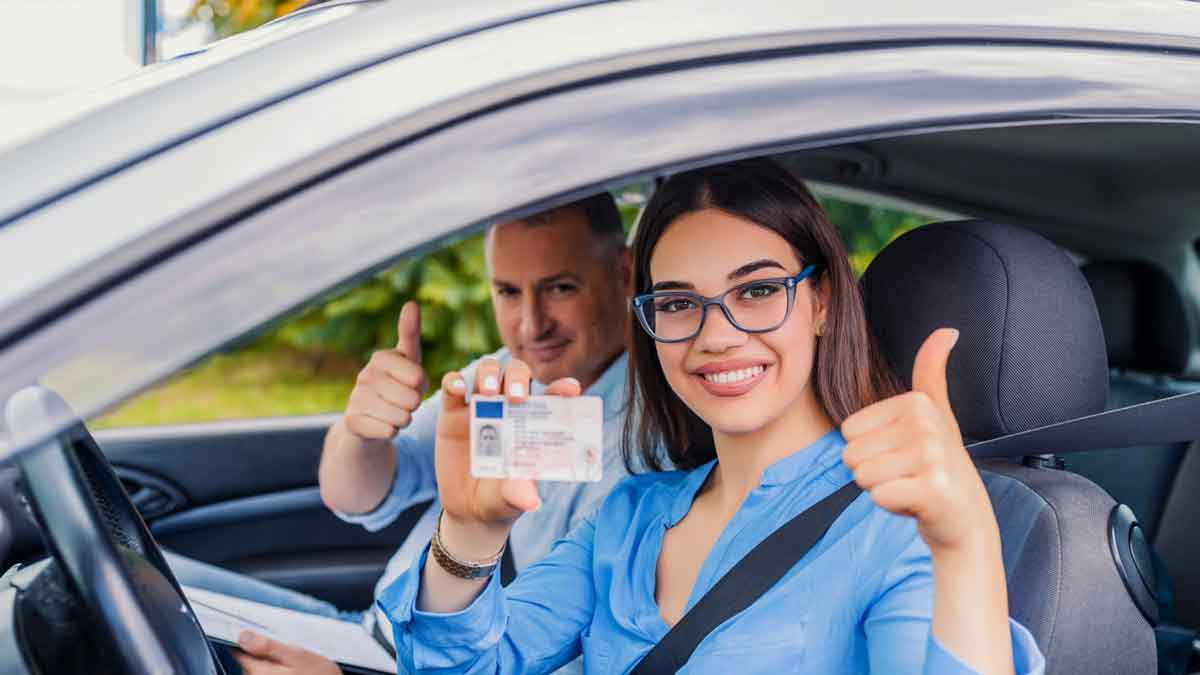
[[[1104,408],[1108,363],[1092,292],[1042,237],[984,221],[929,225],[886,246],[862,285],[871,329],[908,386],[925,338],[959,329],[947,382],[967,440]]]

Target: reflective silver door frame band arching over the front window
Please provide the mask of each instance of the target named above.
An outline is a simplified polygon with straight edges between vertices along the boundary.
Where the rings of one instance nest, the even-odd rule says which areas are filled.
[[[1102,96],[1082,88],[1087,92],[1082,97],[1070,86],[1043,88],[1040,96],[1030,97],[1021,88],[998,85],[1031,59],[1040,59],[1060,83],[1075,77],[1080,85],[1106,88]],[[232,220],[214,219],[210,211],[209,220],[199,222],[221,227],[208,237],[187,241],[8,345],[0,352],[0,399],[23,383],[41,381],[55,387],[82,417],[94,416],[400,256],[428,250],[493,219],[521,216],[652,172],[880,135],[1145,119],[1148,110],[1159,118],[1163,110],[1186,113],[1183,119],[1194,115],[1195,103],[1168,86],[1170,78],[1159,80],[1166,83],[1159,90],[1147,91],[1145,78],[1135,77],[1150,61],[1159,73],[1171,67],[1180,74],[1200,70],[1194,58],[1092,47],[952,44],[755,53],[677,70],[583,78],[574,86],[510,98],[416,139],[396,142],[395,130],[377,133],[373,147],[356,148],[361,154],[355,160],[319,179],[292,175],[294,183],[282,197],[262,189],[262,203]],[[946,86],[980,68],[997,83],[989,96],[955,106],[922,101],[916,94],[906,101],[906,91]],[[1140,96],[1130,98],[1134,89]],[[324,94],[296,98],[287,106],[290,109],[272,113],[312,113],[335,102],[336,91]],[[1115,108],[1114,101],[1124,107]],[[797,109],[814,114],[797,119]],[[396,124],[404,123],[410,120]],[[254,129],[247,125],[241,131]],[[486,171],[493,166],[487,160],[502,149],[509,157],[504,171]],[[215,149],[192,150],[190,159],[203,160]],[[605,161],[581,162],[575,172],[550,168],[576,156]],[[439,172],[460,183],[470,178],[473,198],[455,199],[446,186],[421,183],[422,173],[427,179]],[[400,185],[404,191],[397,191]],[[416,207],[425,209],[421,217],[412,213]],[[397,209],[415,217],[415,225],[379,225],[383,214],[398,214]],[[354,239],[348,240],[347,233]],[[264,251],[274,256],[268,265]],[[246,287],[256,292],[238,292]],[[188,311],[170,311],[181,306]],[[54,431],[35,430],[10,444],[24,447]]]

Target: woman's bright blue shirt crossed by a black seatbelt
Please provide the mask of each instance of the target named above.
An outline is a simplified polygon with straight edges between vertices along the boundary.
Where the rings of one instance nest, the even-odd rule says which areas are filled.
[[[830,431],[763,472],[709,551],[690,609],[770,532],[851,480]],[[415,609],[420,563],[379,597],[401,673],[550,673],[583,653],[588,674],[628,673],[667,632],[654,599],[662,536],[715,462],[636,476],[508,589],[497,575],[467,609]],[[520,521],[518,521],[520,522]],[[934,578],[916,521],[860,495],[754,605],[726,621],[680,673],[973,673],[930,632]],[[1040,674],[1032,635],[1010,621],[1014,665]]]

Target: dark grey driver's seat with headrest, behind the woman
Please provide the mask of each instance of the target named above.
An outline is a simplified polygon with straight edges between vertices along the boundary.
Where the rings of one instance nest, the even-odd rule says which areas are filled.
[[[1092,293],[1045,239],[984,221],[930,225],[881,251],[862,283],[875,336],[905,381],[934,329],[960,329],[948,384],[967,441],[1103,410],[1108,363]],[[1112,497],[1043,461],[988,460],[980,470],[1009,611],[1033,633],[1046,673],[1154,673],[1151,620],[1109,543]]]

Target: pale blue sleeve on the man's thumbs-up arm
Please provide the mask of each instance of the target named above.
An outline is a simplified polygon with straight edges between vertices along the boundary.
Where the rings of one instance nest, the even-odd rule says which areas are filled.
[[[488,358],[488,357],[485,357]],[[504,359],[504,353],[497,352],[491,358]],[[475,381],[476,359],[462,369],[463,380],[468,387]],[[334,510],[334,515],[361,525],[368,532],[378,532],[392,524],[408,507],[432,500],[438,494],[437,473],[433,470],[433,443],[438,432],[438,412],[442,410],[442,392],[421,402],[413,411],[413,419],[396,434],[392,444],[396,448],[396,473],[391,477],[391,488],[379,506],[366,513],[346,513]]]

